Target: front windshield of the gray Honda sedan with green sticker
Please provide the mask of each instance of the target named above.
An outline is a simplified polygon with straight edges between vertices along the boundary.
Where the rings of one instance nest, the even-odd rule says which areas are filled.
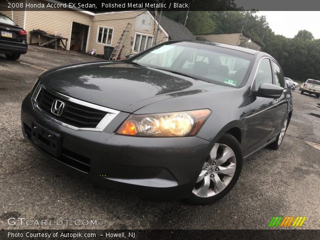
[[[139,65],[190,76],[219,85],[238,87],[253,54],[194,42],[167,42],[130,59]]]

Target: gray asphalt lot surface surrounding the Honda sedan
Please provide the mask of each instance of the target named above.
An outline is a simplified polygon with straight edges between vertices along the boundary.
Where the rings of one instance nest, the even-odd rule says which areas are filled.
[[[320,229],[320,100],[298,89],[281,147],[247,158],[235,187],[210,205],[141,199],[47,160],[22,136],[22,99],[43,70],[94,60],[37,46],[17,61],[0,54],[0,229],[267,229],[272,216],[306,216],[300,228]],[[41,219],[64,224],[34,224]]]

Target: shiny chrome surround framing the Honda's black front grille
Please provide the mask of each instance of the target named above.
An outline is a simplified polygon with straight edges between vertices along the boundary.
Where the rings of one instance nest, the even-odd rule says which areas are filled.
[[[53,95],[55,95],[57,97],[60,97],[60,98],[62,98],[64,100],[71,101],[71,102],[74,102],[74,103],[77,103],[77,104],[80,104],[80,105],[83,105],[83,106],[91,107],[91,108],[94,108],[94,109],[98,109],[98,110],[101,110],[101,111],[105,111],[107,113],[100,120],[100,122],[96,125],[96,127],[94,127],[94,128],[93,127],[77,127],[77,126],[73,126],[73,125],[70,125],[68,123],[62,122],[60,120],[57,120],[57,119],[53,118],[52,116],[48,115],[46,112],[41,110],[41,108],[36,103],[36,98],[37,98],[41,88],[45,89],[46,91],[50,92],[51,94],[53,94]],[[100,105],[96,105],[96,104],[93,104],[93,103],[90,103],[90,102],[82,101],[82,100],[73,98],[71,96],[67,96],[67,95],[64,95],[62,93],[56,92],[56,91],[50,89],[49,87],[44,86],[41,83],[39,83],[36,86],[32,96],[31,96],[31,102],[32,102],[32,106],[33,106],[34,109],[37,109],[42,114],[44,114],[47,117],[51,118],[51,120],[53,122],[55,122],[57,124],[60,124],[62,126],[68,127],[70,129],[73,129],[73,130],[102,131],[111,122],[111,120],[113,120],[113,118],[119,113],[119,111],[117,111],[117,110],[114,110],[114,109],[111,109],[111,108],[108,108],[108,107],[104,107],[104,106],[100,106]]]

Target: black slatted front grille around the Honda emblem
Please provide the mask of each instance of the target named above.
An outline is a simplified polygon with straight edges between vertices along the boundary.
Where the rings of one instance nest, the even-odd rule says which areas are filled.
[[[51,112],[52,102],[60,100],[64,102],[64,108],[60,116]],[[58,97],[43,87],[36,97],[38,107],[51,117],[76,127],[94,128],[107,112],[92,107],[84,106]]]

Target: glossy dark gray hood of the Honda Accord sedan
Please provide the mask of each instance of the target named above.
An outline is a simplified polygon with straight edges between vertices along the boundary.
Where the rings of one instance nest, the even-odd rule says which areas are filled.
[[[207,91],[218,85],[122,61],[99,61],[52,68],[39,76],[51,89],[125,112],[148,104]]]

